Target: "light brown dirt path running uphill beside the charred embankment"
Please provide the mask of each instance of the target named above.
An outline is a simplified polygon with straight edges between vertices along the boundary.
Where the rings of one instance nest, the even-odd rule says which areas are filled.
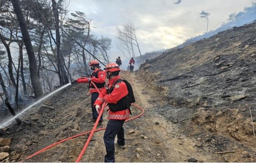
[[[130,77],[122,73],[122,77],[131,82]],[[200,162],[216,162],[213,155],[195,146],[197,141],[183,136],[173,123],[167,123],[159,114],[155,114],[157,107],[149,104],[149,94],[143,83],[131,74],[135,83],[136,104],[145,109],[144,116],[125,125],[126,132],[134,127],[135,133],[127,134],[127,148],[117,149],[117,162],[185,162],[187,159],[195,158]],[[132,111],[135,111],[133,109]],[[146,139],[144,139],[144,137]],[[129,154],[130,158],[126,155]]]

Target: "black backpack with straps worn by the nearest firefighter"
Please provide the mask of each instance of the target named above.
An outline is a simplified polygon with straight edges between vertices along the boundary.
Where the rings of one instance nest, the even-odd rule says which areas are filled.
[[[123,99],[126,99],[125,101],[129,103],[129,104],[126,103],[126,107],[130,111],[130,104],[135,102],[135,97],[134,97],[134,94],[133,94],[132,87],[131,87],[130,83],[127,80],[125,80],[125,79],[116,80],[116,82],[113,83],[112,87],[109,88],[108,93],[110,94],[114,90],[114,87],[115,87],[116,83],[122,82],[122,81],[126,83],[126,87],[127,87],[127,90],[128,90],[128,95],[126,97],[124,97]],[[110,107],[110,104],[109,104],[109,107]],[[123,109],[113,109],[112,108],[112,111],[118,111],[118,110],[123,110]],[[131,111],[130,111],[130,114],[131,114]]]

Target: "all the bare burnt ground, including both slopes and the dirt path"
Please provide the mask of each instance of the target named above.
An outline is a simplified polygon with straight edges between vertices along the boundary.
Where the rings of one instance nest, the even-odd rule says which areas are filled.
[[[220,32],[151,59],[132,74],[136,103],[145,113],[125,123],[127,147],[116,148],[116,162],[255,162],[249,112],[250,107],[255,120],[255,32],[256,23]],[[131,82],[127,73],[122,77]],[[160,82],[172,77],[177,78]],[[87,88],[72,85],[43,103],[54,109],[30,109],[21,119],[31,125],[13,123],[0,129],[0,137],[11,139],[9,157],[3,162],[19,162],[56,141],[92,129],[93,124],[87,123],[91,117]],[[132,112],[135,116],[140,110],[132,108]],[[104,119],[99,128],[106,124]],[[94,134],[81,162],[103,161],[103,133]],[[87,137],[61,143],[25,162],[74,162]],[[216,154],[233,150],[237,152]]]

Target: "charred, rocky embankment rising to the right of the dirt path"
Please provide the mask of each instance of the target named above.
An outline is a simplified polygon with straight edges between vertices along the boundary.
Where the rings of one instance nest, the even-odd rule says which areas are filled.
[[[157,112],[189,136],[214,140],[213,150],[256,155],[255,33],[256,22],[234,27],[142,64],[138,77],[148,82]]]

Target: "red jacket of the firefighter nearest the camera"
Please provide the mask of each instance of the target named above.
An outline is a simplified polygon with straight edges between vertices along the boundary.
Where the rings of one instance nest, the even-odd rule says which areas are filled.
[[[117,76],[111,80],[109,80],[109,84],[107,85],[108,88],[112,87],[112,84],[116,82],[116,80],[120,79],[120,76]],[[104,101],[107,101],[107,103],[113,103],[116,104],[117,101],[121,100],[123,97],[128,95],[128,90],[126,87],[125,82],[118,82],[116,83],[114,90],[111,94],[107,94],[107,89],[104,88],[101,90],[97,100],[95,101],[94,105],[101,106]],[[108,119],[119,119],[124,120],[130,118],[130,112],[129,109],[121,110],[112,112],[111,110],[108,110]]]

